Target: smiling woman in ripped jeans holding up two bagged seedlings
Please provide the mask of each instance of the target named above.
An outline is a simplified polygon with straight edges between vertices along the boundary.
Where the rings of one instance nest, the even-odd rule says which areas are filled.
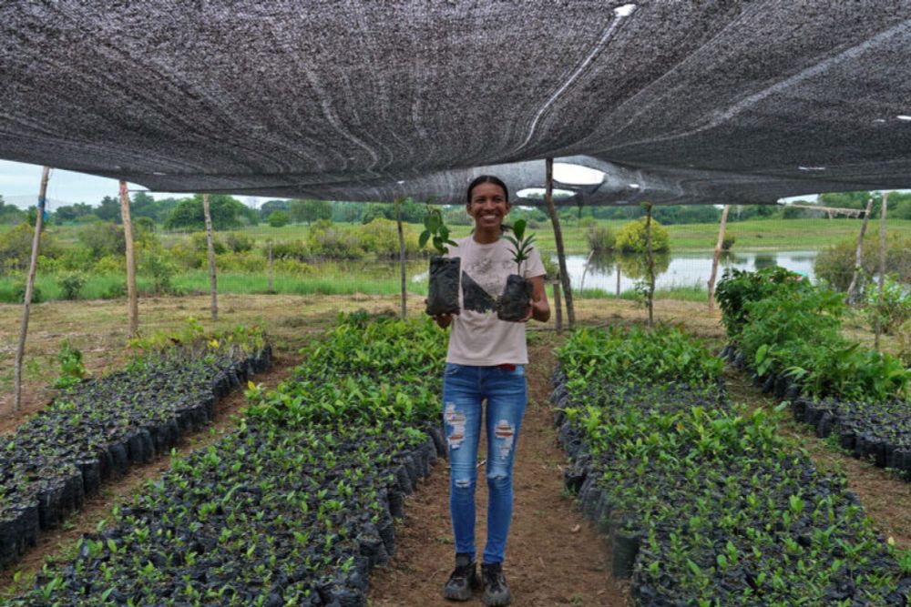
[[[527,404],[524,323],[550,318],[544,265],[537,248],[531,250],[522,268],[522,275],[532,283],[525,318],[506,322],[497,319],[493,311],[494,298],[503,291],[507,276],[517,271],[512,245],[501,238],[509,208],[507,187],[497,177],[477,177],[468,186],[467,211],[475,219],[475,230],[458,240],[457,247],[449,248],[449,257],[462,259],[461,311],[457,316],[434,317],[443,329],[453,327],[446,354],[443,416],[451,467],[449,511],[455,533],[455,571],[445,583],[443,595],[467,601],[483,582],[481,601],[488,607],[510,601],[503,558],[512,519],[513,456]],[[475,565],[475,487],[484,400],[487,542],[479,580]]]

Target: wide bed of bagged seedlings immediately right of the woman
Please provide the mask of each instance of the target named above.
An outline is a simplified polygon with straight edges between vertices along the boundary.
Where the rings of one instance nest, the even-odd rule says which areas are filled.
[[[662,349],[700,352],[663,366],[605,354]],[[732,404],[706,349],[665,329],[582,331],[558,356],[568,488],[636,604],[907,604],[911,559],[779,438],[775,414]]]

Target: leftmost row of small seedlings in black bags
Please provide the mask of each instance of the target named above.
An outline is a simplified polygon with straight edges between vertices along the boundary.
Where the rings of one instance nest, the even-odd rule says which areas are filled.
[[[267,369],[261,332],[242,329],[147,352],[85,379],[0,440],[0,567],[35,546],[103,482],[168,452],[215,403]]]

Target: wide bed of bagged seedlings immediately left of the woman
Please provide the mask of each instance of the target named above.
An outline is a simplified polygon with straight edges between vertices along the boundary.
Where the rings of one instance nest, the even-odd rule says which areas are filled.
[[[445,450],[445,350],[430,324],[353,317],[304,355],[11,604],[363,605],[404,495]]]

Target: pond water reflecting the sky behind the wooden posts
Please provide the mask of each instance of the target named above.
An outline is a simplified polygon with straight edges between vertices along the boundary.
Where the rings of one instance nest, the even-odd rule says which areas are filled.
[[[723,255],[718,268],[722,278],[725,268],[757,270],[781,266],[814,279],[813,264],[816,251],[738,252]],[[693,287],[707,288],[711,276],[712,253],[676,253],[655,256],[655,288]],[[586,256],[567,257],[569,278],[574,287],[599,288],[609,293],[617,289],[617,271],[620,274],[620,291],[633,288],[636,282],[646,279],[645,256],[608,256],[592,258],[586,268]],[[556,263],[557,258],[554,258]],[[583,284],[582,275],[585,274]]]

